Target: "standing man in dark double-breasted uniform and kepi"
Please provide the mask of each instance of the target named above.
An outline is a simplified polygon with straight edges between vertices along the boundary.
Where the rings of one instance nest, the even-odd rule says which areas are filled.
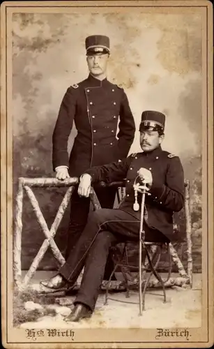
[[[68,88],[54,128],[53,167],[58,179],[79,177],[92,166],[126,157],[135,137],[135,121],[128,98],[123,89],[106,77],[109,38],[89,36],[85,44],[89,77]],[[77,136],[68,158],[68,137],[73,121]],[[118,121],[119,133],[116,135]],[[95,192],[101,207],[113,207],[115,188],[95,188]],[[82,234],[89,207],[89,198],[81,198],[76,189],[71,200],[66,258]]]

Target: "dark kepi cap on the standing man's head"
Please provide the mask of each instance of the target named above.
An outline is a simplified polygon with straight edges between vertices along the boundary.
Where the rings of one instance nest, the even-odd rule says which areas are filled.
[[[86,38],[86,54],[106,54],[110,50],[110,41],[105,35],[91,35]]]

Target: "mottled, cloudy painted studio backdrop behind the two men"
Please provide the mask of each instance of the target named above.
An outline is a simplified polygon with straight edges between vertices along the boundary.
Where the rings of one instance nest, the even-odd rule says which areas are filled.
[[[157,13],[13,15],[13,179],[51,177],[52,131],[63,94],[88,75],[84,39],[111,42],[108,78],[125,89],[137,128],[142,110],[167,115],[163,148],[181,156],[192,184],[194,271],[201,270],[201,16]],[[69,147],[76,131],[70,135]],[[138,132],[131,151],[139,151]],[[35,191],[50,226],[63,189]],[[66,244],[68,211],[56,235]],[[22,265],[43,241],[24,198]],[[50,252],[40,268],[54,269]]]

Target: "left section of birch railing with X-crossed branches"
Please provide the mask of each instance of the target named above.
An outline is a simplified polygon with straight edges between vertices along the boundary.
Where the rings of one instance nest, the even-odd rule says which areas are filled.
[[[59,261],[60,265],[63,265],[65,259],[59,248],[56,246],[54,242],[54,236],[56,235],[56,230],[61,223],[63,218],[63,214],[68,207],[68,203],[70,201],[70,197],[72,192],[74,191],[75,185],[78,183],[78,178],[73,177],[66,179],[65,181],[59,181],[55,178],[23,178],[19,179],[19,186],[17,191],[16,198],[16,209],[15,209],[15,235],[14,235],[14,246],[13,246],[13,272],[14,272],[14,281],[15,285],[18,289],[22,290],[26,288],[26,285],[29,283],[31,277],[35,274],[36,269],[40,261],[43,259],[45,252],[47,251],[48,246],[52,249],[52,253],[56,260]],[[38,205],[38,201],[31,190],[32,187],[40,187],[47,188],[49,186],[52,187],[67,187],[66,195],[64,196],[61,205],[57,211],[56,217],[54,219],[54,223],[52,223],[52,227],[50,230],[47,228],[47,223],[45,222],[45,218],[43,217],[42,212],[40,211],[40,207]],[[33,259],[33,262],[29,268],[29,271],[24,276],[24,280],[22,281],[22,267],[21,267],[21,253],[22,253],[22,206],[23,206],[23,194],[24,190],[29,197],[31,205],[33,206],[33,211],[36,214],[36,218],[38,219],[38,223],[42,228],[46,239],[44,240],[42,246],[40,247],[36,257]]]

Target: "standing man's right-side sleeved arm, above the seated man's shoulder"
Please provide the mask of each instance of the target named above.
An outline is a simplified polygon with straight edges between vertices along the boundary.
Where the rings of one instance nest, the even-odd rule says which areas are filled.
[[[122,89],[122,101],[120,109],[120,122],[119,122],[119,151],[121,157],[128,155],[132,142],[135,138],[135,120],[130,110],[128,98]]]

